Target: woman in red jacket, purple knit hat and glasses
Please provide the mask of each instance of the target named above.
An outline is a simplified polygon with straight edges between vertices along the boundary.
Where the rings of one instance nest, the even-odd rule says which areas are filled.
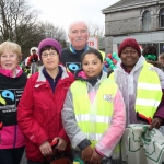
[[[26,137],[27,164],[49,164],[50,142],[56,138],[57,149],[69,151],[61,109],[74,78],[59,66],[61,46],[57,40],[42,40],[38,55],[43,67],[28,79],[17,110],[19,125]]]

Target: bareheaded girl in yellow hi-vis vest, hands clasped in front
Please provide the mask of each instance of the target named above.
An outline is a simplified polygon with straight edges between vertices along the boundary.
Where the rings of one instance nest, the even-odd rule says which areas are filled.
[[[119,155],[126,125],[125,104],[114,81],[102,71],[99,51],[90,49],[81,57],[82,70],[68,91],[62,121],[72,144],[74,164],[107,164]]]

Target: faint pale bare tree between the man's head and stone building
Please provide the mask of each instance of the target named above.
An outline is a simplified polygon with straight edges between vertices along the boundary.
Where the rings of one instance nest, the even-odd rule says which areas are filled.
[[[90,36],[92,37],[104,37],[104,27],[99,26],[98,24],[92,23],[91,21],[87,23]]]

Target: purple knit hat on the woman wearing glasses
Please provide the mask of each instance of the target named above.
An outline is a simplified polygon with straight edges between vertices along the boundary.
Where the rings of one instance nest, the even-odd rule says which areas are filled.
[[[61,57],[61,46],[60,46],[60,44],[56,39],[45,38],[38,45],[38,55],[39,55],[40,59],[42,59],[42,49],[45,46],[52,46],[59,52],[59,58]]]

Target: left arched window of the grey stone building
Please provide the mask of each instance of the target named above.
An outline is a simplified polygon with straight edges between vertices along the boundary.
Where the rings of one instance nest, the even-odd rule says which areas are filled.
[[[145,11],[143,13],[143,31],[150,31],[151,30],[151,23],[152,23],[152,19],[151,19],[151,13],[150,11]]]

